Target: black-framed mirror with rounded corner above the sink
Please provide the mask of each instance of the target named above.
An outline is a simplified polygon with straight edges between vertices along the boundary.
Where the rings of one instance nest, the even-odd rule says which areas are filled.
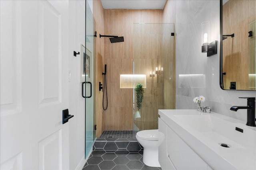
[[[220,0],[220,88],[256,90],[255,0]]]

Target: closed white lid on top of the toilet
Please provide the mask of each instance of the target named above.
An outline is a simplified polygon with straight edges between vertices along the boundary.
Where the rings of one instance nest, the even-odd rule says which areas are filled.
[[[158,129],[154,129],[139,131],[136,136],[148,141],[158,141],[159,138],[164,137],[164,134],[162,132],[158,132]]]

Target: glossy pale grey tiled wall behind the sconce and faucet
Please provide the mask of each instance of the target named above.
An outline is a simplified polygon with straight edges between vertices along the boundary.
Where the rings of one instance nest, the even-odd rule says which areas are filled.
[[[165,8],[171,10],[170,22],[176,26],[176,109],[195,109],[192,99],[203,95],[207,100],[204,106],[246,121],[246,110],[235,112],[230,111],[230,107],[245,106],[246,99],[238,97],[256,97],[256,91],[222,90],[219,86],[220,1],[168,1]],[[201,23],[207,20],[210,21],[210,42],[218,40],[218,53],[211,57],[201,53]],[[198,85],[194,79],[180,80],[179,74],[204,74],[205,81],[195,88]]]

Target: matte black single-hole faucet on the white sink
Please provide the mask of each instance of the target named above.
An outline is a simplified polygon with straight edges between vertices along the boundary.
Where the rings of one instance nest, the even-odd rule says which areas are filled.
[[[237,111],[238,109],[247,109],[247,126],[256,126],[255,124],[255,98],[244,97],[247,99],[247,106],[232,106],[230,110]]]

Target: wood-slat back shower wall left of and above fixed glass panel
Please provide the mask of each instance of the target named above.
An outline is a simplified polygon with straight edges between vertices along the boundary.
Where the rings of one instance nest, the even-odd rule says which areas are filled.
[[[120,89],[120,74],[133,74],[133,23],[162,23],[162,10],[104,10],[104,22],[106,35],[124,36],[121,43],[102,38],[108,88],[104,130],[133,130],[133,90]]]

